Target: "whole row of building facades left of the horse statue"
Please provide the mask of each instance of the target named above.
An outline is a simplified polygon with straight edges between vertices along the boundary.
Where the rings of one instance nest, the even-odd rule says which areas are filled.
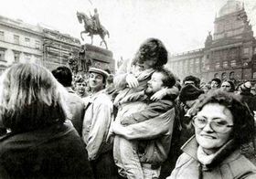
[[[78,54],[80,40],[43,26],[0,16],[0,74],[17,62],[49,68],[68,66],[69,54]]]

